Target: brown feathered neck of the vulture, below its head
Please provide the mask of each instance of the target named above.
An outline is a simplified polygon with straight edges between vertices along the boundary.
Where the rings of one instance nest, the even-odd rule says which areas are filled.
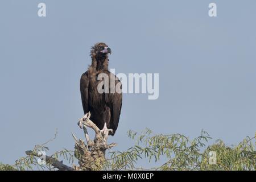
[[[90,66],[94,71],[102,71],[109,69],[108,56],[94,56],[92,57],[92,65]]]

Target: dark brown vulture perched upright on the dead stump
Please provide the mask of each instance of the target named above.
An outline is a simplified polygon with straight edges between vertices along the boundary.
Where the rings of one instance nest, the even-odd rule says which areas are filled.
[[[90,51],[92,64],[88,71],[81,76],[80,92],[84,113],[86,114],[90,111],[90,119],[98,128],[102,130],[106,123],[106,127],[113,130],[113,133],[109,134],[114,135],[118,127],[119,115],[121,113],[122,93],[110,93],[110,91],[109,93],[99,93],[97,90],[97,86],[101,82],[97,80],[100,73],[106,73],[109,79],[115,78],[115,85],[120,82],[119,79],[108,70],[108,53],[111,53],[111,49],[105,43],[97,43],[92,47]]]

